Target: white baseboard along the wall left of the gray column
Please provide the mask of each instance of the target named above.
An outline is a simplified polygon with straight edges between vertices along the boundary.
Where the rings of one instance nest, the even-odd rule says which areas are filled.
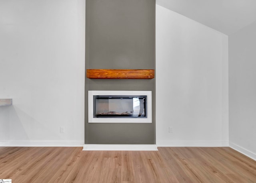
[[[2,147],[82,147],[84,141],[0,141]]]

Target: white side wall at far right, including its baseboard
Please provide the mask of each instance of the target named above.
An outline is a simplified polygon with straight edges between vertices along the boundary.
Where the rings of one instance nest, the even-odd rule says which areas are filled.
[[[256,22],[229,37],[230,147],[256,159]]]

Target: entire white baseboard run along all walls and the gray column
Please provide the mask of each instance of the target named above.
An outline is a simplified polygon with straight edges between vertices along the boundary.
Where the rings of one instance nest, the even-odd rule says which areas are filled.
[[[0,147],[84,147],[86,151],[158,151],[157,147],[230,147],[256,161],[256,153],[228,141],[167,141],[156,144],[84,144],[84,141],[0,141]]]

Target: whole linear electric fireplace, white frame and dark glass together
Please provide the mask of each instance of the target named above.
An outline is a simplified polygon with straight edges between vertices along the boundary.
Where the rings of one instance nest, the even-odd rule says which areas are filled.
[[[89,123],[151,123],[151,91],[88,91]]]

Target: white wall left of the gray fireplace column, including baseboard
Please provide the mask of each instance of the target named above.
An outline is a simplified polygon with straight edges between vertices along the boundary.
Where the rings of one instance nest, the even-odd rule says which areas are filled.
[[[84,144],[84,55],[84,0],[0,1],[0,145]]]

